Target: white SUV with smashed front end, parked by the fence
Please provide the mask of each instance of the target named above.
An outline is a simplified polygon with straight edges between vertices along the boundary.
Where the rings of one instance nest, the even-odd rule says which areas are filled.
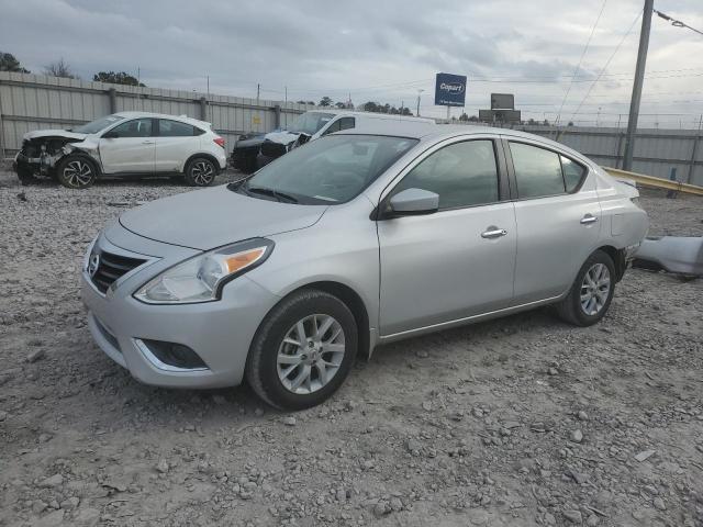
[[[83,189],[100,176],[180,173],[194,187],[209,187],[226,167],[224,139],[210,123],[185,115],[120,112],[72,130],[24,135],[14,170],[23,183],[48,176]]]

